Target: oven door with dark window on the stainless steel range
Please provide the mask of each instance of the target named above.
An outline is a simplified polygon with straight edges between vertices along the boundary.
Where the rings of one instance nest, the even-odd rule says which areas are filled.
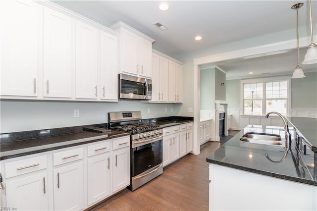
[[[151,139],[151,138],[150,138]],[[152,138],[150,143],[145,142],[143,143],[139,141],[139,144],[132,143],[131,155],[132,155],[132,169],[131,169],[131,176],[135,177],[154,166],[157,166],[162,163],[163,160],[163,151],[162,151],[162,144],[163,139],[162,135]],[[137,141],[136,141],[137,142]]]

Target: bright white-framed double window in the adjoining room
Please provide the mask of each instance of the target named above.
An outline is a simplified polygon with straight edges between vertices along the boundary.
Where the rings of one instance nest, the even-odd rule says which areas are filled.
[[[243,113],[245,115],[265,115],[277,111],[282,115],[288,112],[288,80],[273,81],[254,79],[242,81]]]

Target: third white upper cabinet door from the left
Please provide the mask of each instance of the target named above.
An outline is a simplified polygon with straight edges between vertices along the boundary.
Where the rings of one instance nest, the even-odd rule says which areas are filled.
[[[99,30],[76,20],[76,98],[98,97]]]

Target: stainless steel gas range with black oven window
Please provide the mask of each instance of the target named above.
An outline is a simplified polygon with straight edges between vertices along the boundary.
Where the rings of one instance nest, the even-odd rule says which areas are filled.
[[[163,173],[163,129],[144,124],[141,111],[109,112],[109,127],[131,132],[131,185],[134,191]]]

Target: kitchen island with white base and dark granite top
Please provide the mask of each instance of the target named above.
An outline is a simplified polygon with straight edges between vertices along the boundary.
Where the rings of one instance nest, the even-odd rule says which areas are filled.
[[[282,140],[285,133],[283,127],[249,125],[206,158],[210,162],[209,210],[316,210],[317,181],[314,169],[308,167],[314,163],[314,153],[303,159],[292,140],[286,158],[271,162],[265,153],[279,160],[284,146],[240,141],[250,131],[277,134]],[[290,133],[294,137],[293,128]]]

